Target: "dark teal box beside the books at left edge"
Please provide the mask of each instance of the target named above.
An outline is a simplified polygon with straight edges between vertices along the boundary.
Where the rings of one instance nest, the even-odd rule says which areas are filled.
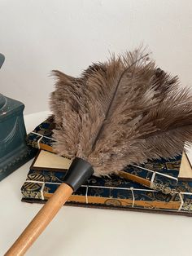
[[[0,94],[0,180],[34,157],[26,145],[24,104]]]

